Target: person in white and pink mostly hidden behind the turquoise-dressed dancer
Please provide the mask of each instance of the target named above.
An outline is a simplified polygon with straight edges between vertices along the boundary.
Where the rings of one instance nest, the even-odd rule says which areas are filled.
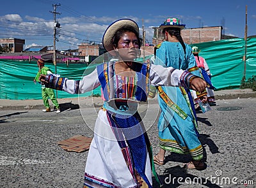
[[[211,79],[211,72],[210,72],[209,66],[208,66],[207,62],[205,61],[204,57],[199,55],[200,49],[196,46],[193,46],[192,52],[193,52],[193,55],[195,56],[196,64],[197,64],[198,68],[204,69],[204,71],[209,76],[209,79]],[[214,98],[214,90],[207,87],[206,92],[207,92],[207,97],[205,99],[207,100],[209,105],[210,106],[216,105],[215,98]],[[193,96],[194,96],[194,98],[196,97],[195,91],[193,91]],[[196,105],[197,105],[196,108],[198,108],[198,104],[196,104]]]

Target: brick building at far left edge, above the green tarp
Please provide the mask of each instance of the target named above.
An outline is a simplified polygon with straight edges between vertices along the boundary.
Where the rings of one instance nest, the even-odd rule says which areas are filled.
[[[10,52],[22,52],[23,45],[25,44],[25,40],[17,39],[17,38],[1,38],[0,45],[1,47],[8,47]]]

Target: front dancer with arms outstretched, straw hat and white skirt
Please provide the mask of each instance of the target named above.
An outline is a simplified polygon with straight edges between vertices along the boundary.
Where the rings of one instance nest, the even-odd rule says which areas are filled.
[[[188,71],[135,62],[140,54],[139,27],[120,19],[106,29],[103,47],[111,57],[82,80],[52,75],[40,77],[46,87],[80,94],[99,86],[104,105],[98,112],[94,136],[84,170],[84,187],[152,187],[152,147],[138,113],[147,101],[149,85],[182,85],[202,91],[206,82]]]

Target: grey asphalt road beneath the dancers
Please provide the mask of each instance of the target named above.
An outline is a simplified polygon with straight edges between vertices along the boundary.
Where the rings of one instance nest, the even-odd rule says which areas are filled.
[[[256,187],[256,98],[217,104],[197,113],[207,169],[186,170],[189,155],[168,152],[167,163],[156,165],[163,187]],[[0,110],[0,187],[83,187],[88,152],[67,152],[57,142],[77,134],[92,137],[97,110]],[[154,153],[158,111],[156,104],[139,108]]]

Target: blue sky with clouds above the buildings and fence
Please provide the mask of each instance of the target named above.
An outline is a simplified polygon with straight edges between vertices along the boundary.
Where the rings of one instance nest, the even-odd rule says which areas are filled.
[[[86,41],[100,43],[106,27],[120,18],[135,20],[141,31],[144,25],[149,43],[152,27],[158,27],[167,17],[180,18],[186,28],[223,26],[225,34],[243,38],[246,5],[248,36],[256,35],[256,0],[7,0],[1,2],[0,38],[25,39],[24,48],[53,45],[52,4],[60,4],[56,9],[60,13],[56,20],[61,24],[58,50],[76,49]]]

